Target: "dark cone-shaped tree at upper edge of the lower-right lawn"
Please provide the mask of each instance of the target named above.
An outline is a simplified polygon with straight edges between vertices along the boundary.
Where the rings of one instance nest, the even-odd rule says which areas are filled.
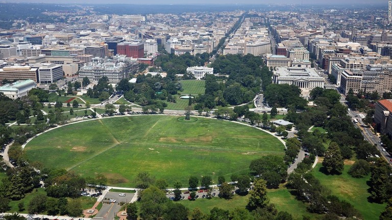
[[[341,156],[339,146],[334,142],[330,143],[329,148],[324,155],[324,168],[330,174],[341,174],[345,169],[344,165],[344,159]]]

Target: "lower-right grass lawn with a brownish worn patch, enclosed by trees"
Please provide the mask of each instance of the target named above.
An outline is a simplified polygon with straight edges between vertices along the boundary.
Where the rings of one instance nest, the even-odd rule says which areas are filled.
[[[385,209],[385,204],[370,203],[367,197],[369,186],[366,181],[370,180],[370,175],[364,178],[353,178],[347,172],[351,165],[345,165],[345,170],[341,175],[326,175],[320,172],[321,163],[313,169],[314,176],[332,191],[332,195],[339,199],[344,199],[351,203],[363,215],[363,219],[378,219],[380,213]]]

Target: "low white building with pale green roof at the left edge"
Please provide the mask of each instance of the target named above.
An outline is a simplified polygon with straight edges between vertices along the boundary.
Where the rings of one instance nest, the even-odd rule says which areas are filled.
[[[29,91],[36,87],[36,84],[31,79],[18,80],[12,84],[6,84],[0,87],[0,93],[11,99],[17,99],[27,96]]]

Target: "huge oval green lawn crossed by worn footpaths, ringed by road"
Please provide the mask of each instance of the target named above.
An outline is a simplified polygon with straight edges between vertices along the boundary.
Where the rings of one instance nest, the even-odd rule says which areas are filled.
[[[198,118],[132,116],[71,124],[39,135],[24,148],[47,168],[65,168],[86,177],[104,174],[108,185],[135,186],[138,172],[186,187],[190,175],[249,172],[262,155],[284,156],[274,136],[239,124]],[[121,129],[119,129],[121,128]]]

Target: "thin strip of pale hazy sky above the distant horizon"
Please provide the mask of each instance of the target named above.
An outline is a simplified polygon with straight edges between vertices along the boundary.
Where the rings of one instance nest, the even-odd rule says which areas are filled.
[[[135,4],[135,5],[184,5],[184,4],[311,4],[311,5],[356,5],[374,4],[388,6],[386,0],[0,0],[0,3],[60,3],[60,4]]]

